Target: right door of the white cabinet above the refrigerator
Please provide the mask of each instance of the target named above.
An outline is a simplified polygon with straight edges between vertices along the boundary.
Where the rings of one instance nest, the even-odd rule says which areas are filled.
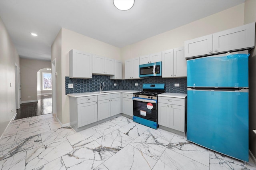
[[[254,47],[255,23],[246,24],[213,34],[213,52],[232,51]]]

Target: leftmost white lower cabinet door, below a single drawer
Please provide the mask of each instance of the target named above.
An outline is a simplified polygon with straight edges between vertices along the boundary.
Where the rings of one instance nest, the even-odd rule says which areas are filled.
[[[77,105],[77,112],[78,127],[98,121],[97,102],[79,104]]]

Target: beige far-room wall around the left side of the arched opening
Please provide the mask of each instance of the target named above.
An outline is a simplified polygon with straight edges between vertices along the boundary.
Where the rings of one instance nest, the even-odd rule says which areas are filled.
[[[43,68],[51,68],[50,61],[20,58],[21,102],[37,101],[37,72]]]

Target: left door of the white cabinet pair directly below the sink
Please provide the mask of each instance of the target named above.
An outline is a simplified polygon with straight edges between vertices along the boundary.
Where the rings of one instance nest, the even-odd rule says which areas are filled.
[[[110,99],[98,101],[98,121],[110,117]]]

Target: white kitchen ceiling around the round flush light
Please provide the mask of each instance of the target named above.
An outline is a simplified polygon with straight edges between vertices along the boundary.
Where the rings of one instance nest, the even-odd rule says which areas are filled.
[[[20,57],[50,61],[61,28],[124,47],[244,1],[135,0],[121,11],[112,0],[0,0],[0,17]]]

